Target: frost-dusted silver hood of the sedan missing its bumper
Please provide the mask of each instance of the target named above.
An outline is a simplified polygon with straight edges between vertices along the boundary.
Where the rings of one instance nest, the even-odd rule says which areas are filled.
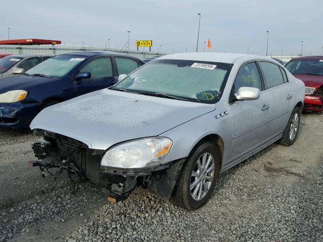
[[[215,107],[102,89],[45,108],[30,129],[55,132],[105,150],[123,141],[157,136]]]

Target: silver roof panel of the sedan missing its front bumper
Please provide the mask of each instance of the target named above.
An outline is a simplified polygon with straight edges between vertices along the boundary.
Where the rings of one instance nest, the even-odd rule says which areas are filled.
[[[158,59],[187,59],[191,61],[200,62],[221,62],[233,64],[237,59],[243,58],[244,61],[248,59],[267,59],[268,61],[273,61],[272,58],[260,55],[252,54],[240,54],[240,53],[225,53],[225,52],[196,52],[196,53],[178,53],[178,54],[168,54],[160,56]]]

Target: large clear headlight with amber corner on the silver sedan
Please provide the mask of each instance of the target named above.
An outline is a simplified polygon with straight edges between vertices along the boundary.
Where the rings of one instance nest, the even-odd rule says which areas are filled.
[[[166,137],[129,141],[108,150],[102,158],[101,165],[119,168],[158,165],[163,162],[172,144],[172,140]]]

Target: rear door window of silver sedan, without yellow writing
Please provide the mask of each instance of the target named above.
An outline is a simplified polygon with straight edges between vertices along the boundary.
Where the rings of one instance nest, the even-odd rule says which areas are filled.
[[[259,62],[259,66],[264,76],[266,89],[284,84],[284,78],[279,66],[270,62]]]

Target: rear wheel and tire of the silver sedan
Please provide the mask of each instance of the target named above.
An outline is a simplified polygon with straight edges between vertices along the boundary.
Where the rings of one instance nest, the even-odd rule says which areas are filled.
[[[301,110],[295,107],[291,116],[288,119],[287,126],[284,130],[283,137],[279,140],[279,144],[291,146],[297,139],[299,124],[301,119]]]

